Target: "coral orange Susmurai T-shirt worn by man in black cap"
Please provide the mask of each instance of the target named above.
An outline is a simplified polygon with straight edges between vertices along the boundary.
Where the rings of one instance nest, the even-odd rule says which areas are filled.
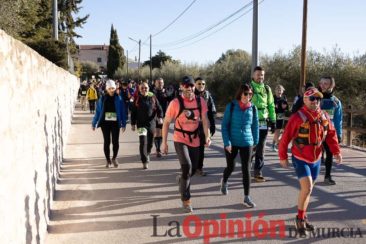
[[[201,114],[207,113],[208,109],[203,98],[201,99]],[[178,120],[175,121],[175,127],[180,128],[178,125],[178,121],[182,129],[185,131],[194,131],[199,124],[199,111],[198,109],[191,110],[191,108],[197,108],[197,101],[194,99],[191,102],[184,101],[184,108],[183,112],[179,115]],[[167,112],[165,116],[175,119],[175,117],[179,113],[179,101],[178,98],[171,101],[168,106]],[[199,147],[199,137],[197,135],[196,139],[193,139],[193,135],[191,135],[192,143],[189,143],[189,137],[185,134],[186,138],[183,137],[183,134],[178,131],[174,131],[173,134],[173,141],[175,142],[182,142],[187,144],[188,146],[192,147]]]

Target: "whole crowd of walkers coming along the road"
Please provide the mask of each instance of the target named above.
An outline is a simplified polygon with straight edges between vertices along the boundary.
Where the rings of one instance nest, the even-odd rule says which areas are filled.
[[[271,88],[264,83],[264,75],[264,68],[255,67],[251,82],[240,86],[234,101],[226,106],[221,134],[227,166],[223,169],[220,193],[229,193],[229,177],[235,170],[239,153],[243,204],[247,207],[256,206],[250,198],[250,170],[254,160],[253,179],[266,181],[263,176],[265,145],[270,128],[273,134],[270,149],[278,152],[280,164],[285,168],[289,164],[288,144],[292,141],[291,162],[301,185],[298,214],[294,222],[298,233],[304,235],[308,230],[314,230],[305,213],[321,164],[326,168],[324,181],[331,185],[337,184],[330,172],[333,155],[338,161],[337,165],[342,161],[339,147],[342,136],[341,103],[334,96],[335,80],[331,76],[323,77],[318,89],[309,82],[302,87],[302,94],[295,98],[292,115],[283,130],[285,113],[289,109],[285,89],[278,85],[272,94]],[[154,146],[156,157],[168,155],[169,125],[174,120],[173,143],[181,169],[176,183],[183,211],[191,212],[191,178],[194,174],[205,176],[207,173],[203,171],[203,161],[205,147],[210,146],[211,136],[216,131],[216,108],[203,77],[193,79],[184,76],[177,88],[173,88],[171,83],[167,88],[164,85],[163,78],[150,82],[140,80],[138,83],[131,79],[127,82],[123,79],[94,79],[88,85],[84,81],[78,95],[82,109],[86,110],[87,99],[90,113],[94,113],[91,129],[101,128],[106,168],[111,168],[112,163],[115,168],[119,166],[119,133],[121,128],[122,132],[125,131],[127,123],[131,123],[131,130],[137,131],[139,136],[143,170],[149,168],[150,153]],[[128,120],[128,113],[131,121]],[[281,131],[283,135],[280,139]],[[111,142],[112,160],[109,151]]]

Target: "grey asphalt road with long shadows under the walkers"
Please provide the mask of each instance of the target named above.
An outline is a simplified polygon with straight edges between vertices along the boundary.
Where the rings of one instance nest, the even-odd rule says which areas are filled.
[[[221,121],[216,120],[216,134],[205,153],[203,170],[208,175],[192,177],[194,211],[184,213],[175,182],[180,165],[172,133],[168,137],[169,155],[158,159],[150,154],[149,169],[142,170],[138,136],[127,124],[126,132],[120,134],[120,166],[105,169],[102,133],[100,129],[91,131],[92,116],[88,110],[81,111],[78,103],[45,243],[366,243],[365,152],[342,148],[344,162],[334,164],[332,170],[337,185],[323,182],[325,168],[321,166],[307,208],[310,221],[320,228],[319,237],[317,233],[316,237],[294,237],[300,185],[292,166],[281,167],[277,153],[270,151],[272,136],[266,148],[266,182],[252,179],[250,196],[257,206],[248,209],[242,204],[240,163],[229,178],[229,194],[219,192],[226,161]],[[173,124],[170,130],[173,132]],[[259,216],[264,221],[258,221]],[[232,230],[233,221],[239,231]],[[268,226],[273,221],[283,223],[284,231],[277,227],[270,234]],[[339,229],[340,237],[332,228]],[[341,232],[342,228],[346,229]],[[227,232],[232,237],[226,236]],[[279,237],[280,233],[284,237]],[[341,237],[347,235],[355,238]]]

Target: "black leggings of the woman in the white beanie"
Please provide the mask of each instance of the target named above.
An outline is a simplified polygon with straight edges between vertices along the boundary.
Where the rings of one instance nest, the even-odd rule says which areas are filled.
[[[103,133],[103,138],[104,138],[104,155],[105,155],[105,159],[111,160],[111,158],[109,157],[109,153],[111,152],[109,150],[109,146],[111,145],[111,134],[112,134],[112,145],[113,145],[113,157],[112,158],[116,158],[117,154],[118,154],[118,149],[119,149],[119,129],[118,125],[111,125],[110,123],[104,123],[101,127],[102,129],[102,133]]]

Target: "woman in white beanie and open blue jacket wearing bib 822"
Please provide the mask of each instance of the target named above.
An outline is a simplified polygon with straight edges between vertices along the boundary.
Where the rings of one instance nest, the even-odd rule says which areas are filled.
[[[126,111],[124,109],[124,101],[116,92],[116,83],[113,80],[106,82],[107,93],[98,100],[97,108],[94,114],[93,122],[91,122],[91,129],[100,127],[104,139],[104,154],[107,159],[105,168],[112,168],[111,158],[109,156],[112,136],[113,145],[113,165],[115,168],[119,166],[117,162],[117,154],[119,149],[119,132],[126,130]]]

